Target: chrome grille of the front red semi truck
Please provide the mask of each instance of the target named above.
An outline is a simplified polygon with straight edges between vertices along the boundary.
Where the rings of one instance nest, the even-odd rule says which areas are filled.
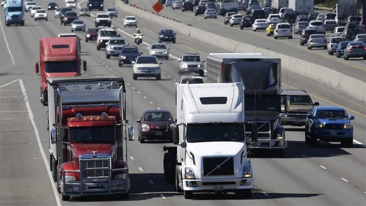
[[[80,159],[83,178],[109,177],[110,158]]]

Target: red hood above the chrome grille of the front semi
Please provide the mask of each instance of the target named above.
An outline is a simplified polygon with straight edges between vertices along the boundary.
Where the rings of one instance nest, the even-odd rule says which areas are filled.
[[[74,155],[78,158],[83,154],[112,154],[113,145],[112,144],[71,144],[73,148]]]

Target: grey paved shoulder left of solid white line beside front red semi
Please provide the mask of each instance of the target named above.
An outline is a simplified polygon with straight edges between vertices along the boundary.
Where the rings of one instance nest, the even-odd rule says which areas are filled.
[[[0,199],[4,205],[54,205],[53,185],[23,95],[19,81],[0,85]]]

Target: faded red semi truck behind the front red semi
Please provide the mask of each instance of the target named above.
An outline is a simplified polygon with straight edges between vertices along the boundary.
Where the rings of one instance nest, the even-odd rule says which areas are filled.
[[[81,60],[80,52],[80,40],[77,37],[44,37],[40,40],[40,60],[36,62],[35,68],[41,76],[41,103],[44,106],[47,105],[46,78],[80,76],[81,61],[86,72],[86,61]]]

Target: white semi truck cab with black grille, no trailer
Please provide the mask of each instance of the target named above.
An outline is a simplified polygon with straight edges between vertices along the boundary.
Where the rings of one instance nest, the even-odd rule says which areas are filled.
[[[186,199],[195,192],[250,196],[254,181],[243,124],[243,84],[178,84],[176,100],[177,121],[171,129],[177,146],[164,147],[165,178]]]

